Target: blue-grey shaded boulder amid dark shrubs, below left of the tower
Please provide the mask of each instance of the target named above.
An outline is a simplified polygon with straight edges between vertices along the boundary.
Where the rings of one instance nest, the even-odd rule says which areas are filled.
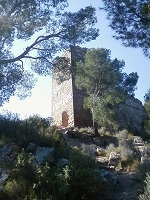
[[[37,147],[35,153],[36,161],[39,165],[43,164],[45,161],[54,161],[54,148],[53,147]]]

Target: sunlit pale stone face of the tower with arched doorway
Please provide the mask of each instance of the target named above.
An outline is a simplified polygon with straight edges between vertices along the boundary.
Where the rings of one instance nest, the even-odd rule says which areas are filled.
[[[69,58],[71,63],[70,51],[65,52],[62,56]],[[53,70],[52,124],[57,126],[74,126],[72,76],[70,75],[68,80],[60,83],[56,80],[56,73]]]

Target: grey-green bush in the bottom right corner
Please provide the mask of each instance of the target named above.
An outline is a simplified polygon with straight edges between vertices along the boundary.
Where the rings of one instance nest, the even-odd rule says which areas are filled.
[[[146,173],[144,180],[144,192],[139,195],[139,200],[149,200],[150,197],[150,174]]]

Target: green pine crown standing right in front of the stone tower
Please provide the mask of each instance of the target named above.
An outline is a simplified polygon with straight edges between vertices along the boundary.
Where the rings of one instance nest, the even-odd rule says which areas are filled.
[[[103,48],[88,49],[84,62],[76,64],[75,84],[87,93],[84,107],[90,109],[93,121],[109,130],[118,128],[114,107],[136,89],[138,75],[123,73],[124,65],[111,60],[110,50]]]

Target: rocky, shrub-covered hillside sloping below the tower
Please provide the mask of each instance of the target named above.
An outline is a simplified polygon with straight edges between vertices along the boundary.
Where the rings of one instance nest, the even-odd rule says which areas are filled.
[[[140,137],[66,132],[38,117],[1,125],[0,199],[138,199],[149,154]]]

